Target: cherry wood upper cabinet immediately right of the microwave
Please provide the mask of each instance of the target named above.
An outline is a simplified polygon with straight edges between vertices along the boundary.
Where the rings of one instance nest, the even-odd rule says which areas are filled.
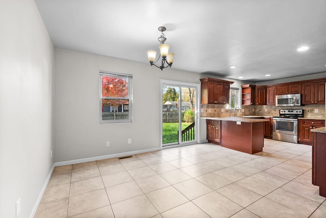
[[[325,104],[325,82],[310,82],[302,84],[302,104]]]

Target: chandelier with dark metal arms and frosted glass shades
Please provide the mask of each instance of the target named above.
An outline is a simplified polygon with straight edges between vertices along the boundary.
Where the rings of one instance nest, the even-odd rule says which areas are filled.
[[[151,66],[152,65],[156,66],[155,63],[159,60],[160,57],[162,57],[161,65],[156,66],[156,67],[160,68],[161,70],[163,70],[164,68],[167,68],[167,67],[171,67],[172,63],[173,63],[173,57],[174,57],[174,53],[169,53],[170,45],[164,44],[164,42],[167,40],[167,38],[165,37],[163,32],[166,30],[167,29],[165,27],[158,28],[158,31],[161,32],[161,36],[157,38],[160,43],[160,45],[158,46],[159,50],[160,50],[160,54],[156,61],[155,61],[156,52],[155,51],[147,51],[148,60],[149,60],[149,63],[151,64]],[[165,66],[165,64],[167,64],[167,65]]]

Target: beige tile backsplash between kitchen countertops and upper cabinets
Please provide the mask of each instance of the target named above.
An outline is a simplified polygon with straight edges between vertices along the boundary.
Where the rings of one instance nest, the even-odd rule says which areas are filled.
[[[234,109],[229,105],[200,105],[201,117],[227,117],[234,116]],[[280,109],[303,109],[307,118],[325,118],[325,105],[305,105],[296,107],[276,107],[273,105],[241,106],[240,112],[236,110],[236,116],[279,116]]]

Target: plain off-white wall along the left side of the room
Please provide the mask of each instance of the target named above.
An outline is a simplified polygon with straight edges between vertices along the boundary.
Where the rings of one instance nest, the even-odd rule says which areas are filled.
[[[33,0],[0,7],[0,217],[29,217],[53,166],[54,49]]]

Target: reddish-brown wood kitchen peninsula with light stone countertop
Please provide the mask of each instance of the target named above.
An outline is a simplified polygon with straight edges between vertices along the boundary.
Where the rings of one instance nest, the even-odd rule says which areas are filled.
[[[220,144],[222,147],[245,152],[248,154],[255,154],[262,151],[264,147],[265,119],[243,118],[234,116],[202,118],[212,120],[211,122],[213,122],[213,120],[220,120]]]

